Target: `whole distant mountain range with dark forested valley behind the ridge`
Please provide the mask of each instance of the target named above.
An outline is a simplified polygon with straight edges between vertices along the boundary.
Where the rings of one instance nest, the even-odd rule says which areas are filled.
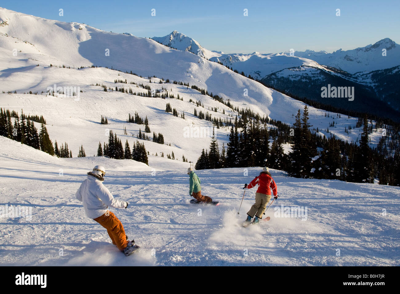
[[[400,45],[389,38],[353,50],[306,50],[275,54],[224,54],[177,31],[153,40],[244,72],[274,89],[335,107],[399,119]],[[356,102],[321,97],[321,88],[354,86]]]

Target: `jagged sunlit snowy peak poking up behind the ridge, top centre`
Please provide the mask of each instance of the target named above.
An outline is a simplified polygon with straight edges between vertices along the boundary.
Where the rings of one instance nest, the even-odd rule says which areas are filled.
[[[171,47],[171,48],[175,48],[177,50],[180,51],[188,51],[188,52],[192,52],[198,56],[210,59],[214,56],[220,56],[221,54],[207,50],[206,48],[200,46],[200,44],[178,32],[178,31],[173,31],[171,34],[168,34],[164,37],[153,37],[152,38],[154,41],[157,41],[165,46]]]

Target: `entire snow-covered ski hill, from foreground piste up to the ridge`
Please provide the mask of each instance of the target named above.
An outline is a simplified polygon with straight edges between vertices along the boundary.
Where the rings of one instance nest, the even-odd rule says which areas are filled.
[[[84,24],[45,20],[3,8],[0,19],[0,91],[6,92],[0,94],[0,106],[43,115],[53,143],[67,142],[74,156],[52,157],[0,137],[0,264],[399,265],[398,187],[294,179],[272,170],[281,198],[266,213],[271,220],[258,227],[242,228],[239,224],[254,202],[255,192],[246,193],[238,217],[242,186],[260,169],[248,168],[246,176],[241,168],[203,170],[198,172],[203,194],[221,204],[188,204],[189,164],[181,158],[184,155],[196,161],[201,149],[209,146],[210,137],[187,136],[186,128],[210,130],[212,126],[196,118],[194,108],[218,119],[234,119],[237,112],[190,87],[160,83],[160,78],[205,88],[229,99],[233,106],[250,108],[287,123],[294,122],[294,114],[303,108],[303,103],[216,62],[154,40],[104,32]],[[92,65],[103,67],[78,69]],[[144,77],[111,67],[132,70]],[[179,94],[183,101],[115,90],[105,92],[96,83],[106,88],[118,86],[147,92],[139,86],[143,84],[154,92]],[[54,84],[79,87],[79,96],[46,94]],[[14,90],[17,94],[7,94]],[[248,96],[244,96],[245,90]],[[29,91],[37,95],[23,94]],[[200,101],[204,108],[190,99]],[[179,114],[184,112],[185,118],[166,113],[166,103]],[[140,140],[150,153],[149,165],[92,157],[98,142],[107,142],[109,130],[122,142],[128,140],[130,146],[136,142],[139,128],[143,130],[144,126],[126,122],[128,114],[134,112],[148,117],[151,132],[164,134],[166,144]],[[350,134],[344,132],[349,124],[356,124],[356,118],[325,116],[324,111],[315,108],[310,108],[309,114],[314,128],[322,131],[334,120],[335,127],[330,132],[336,136],[349,141],[360,136],[359,128]],[[100,124],[101,115],[107,116],[110,124]],[[216,129],[220,147],[228,141],[227,135],[227,128]],[[321,135],[330,136],[325,132]],[[373,144],[380,136],[378,132],[371,135]],[[81,145],[88,157],[76,158]],[[174,152],[178,160],[155,156],[160,152]],[[130,204],[126,210],[112,211],[124,224],[128,236],[142,246],[138,254],[126,258],[118,252],[104,228],[88,219],[82,204],[74,198],[86,173],[96,164],[106,166],[104,184],[114,197]],[[348,198],[349,194],[352,198]],[[274,212],[282,204],[307,208],[307,214],[300,218],[275,217]],[[6,205],[14,211],[27,209],[30,213],[25,217],[9,216],[4,211]],[[382,214],[383,208],[386,214]]]

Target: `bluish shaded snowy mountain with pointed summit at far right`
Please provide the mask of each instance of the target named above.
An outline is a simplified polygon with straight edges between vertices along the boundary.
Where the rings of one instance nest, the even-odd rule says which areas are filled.
[[[385,56],[382,55],[384,49],[386,50]],[[289,55],[290,53],[285,52],[285,54]],[[390,38],[384,38],[375,44],[353,50],[339,49],[333,53],[306,50],[305,52],[296,51],[294,55],[312,59],[319,64],[339,68],[351,74],[383,70],[400,65],[400,45]]]

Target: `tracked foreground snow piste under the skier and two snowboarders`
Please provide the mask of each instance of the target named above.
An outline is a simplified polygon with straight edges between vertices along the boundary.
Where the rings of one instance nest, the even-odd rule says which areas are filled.
[[[6,140],[0,138],[2,146]],[[238,216],[242,186],[259,168],[249,168],[248,176],[242,168],[197,171],[202,193],[220,201],[219,206],[204,206],[188,203],[186,168],[175,166],[152,176],[151,167],[133,160],[52,158],[38,150],[30,155],[24,152],[28,146],[15,141],[6,146],[0,152],[0,205],[31,206],[32,219],[2,215],[1,265],[400,265],[398,187],[296,179],[272,170],[281,197],[266,213],[271,219],[244,228],[256,189],[246,190]],[[20,158],[6,155],[12,150],[22,152]],[[75,199],[88,171],[84,166],[96,160],[110,166],[106,187],[129,202],[126,210],[111,209],[128,237],[142,247],[129,257]],[[142,171],[122,171],[128,166]],[[275,217],[274,208],[281,204],[307,206],[307,220]]]

